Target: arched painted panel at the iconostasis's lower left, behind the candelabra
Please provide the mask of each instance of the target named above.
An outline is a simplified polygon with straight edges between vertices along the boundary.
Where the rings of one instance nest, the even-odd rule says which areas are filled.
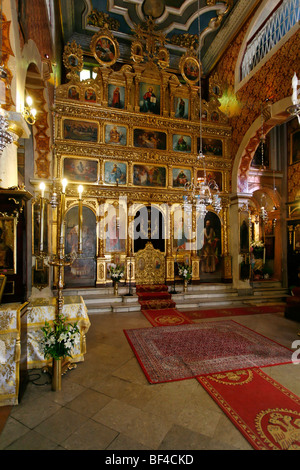
[[[82,255],[65,268],[65,287],[92,287],[96,283],[96,216],[88,207],[82,208]],[[65,252],[78,249],[78,206],[66,214]]]

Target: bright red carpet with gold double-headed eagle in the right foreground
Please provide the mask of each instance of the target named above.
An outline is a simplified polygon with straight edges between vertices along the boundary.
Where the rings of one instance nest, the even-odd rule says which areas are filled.
[[[300,450],[300,399],[259,369],[198,377],[256,450]]]

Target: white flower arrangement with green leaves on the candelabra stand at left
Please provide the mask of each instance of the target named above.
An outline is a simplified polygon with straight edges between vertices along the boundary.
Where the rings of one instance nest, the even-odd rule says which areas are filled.
[[[54,320],[53,326],[45,322],[42,332],[44,336],[41,346],[46,359],[72,357],[74,346],[80,342],[77,323],[66,324],[66,318],[62,316],[58,320]]]

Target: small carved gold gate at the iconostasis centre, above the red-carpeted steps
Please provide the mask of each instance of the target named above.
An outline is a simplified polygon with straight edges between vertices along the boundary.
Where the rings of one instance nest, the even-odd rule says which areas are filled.
[[[153,248],[151,242],[135,255],[136,284],[163,284],[165,282],[165,256]]]

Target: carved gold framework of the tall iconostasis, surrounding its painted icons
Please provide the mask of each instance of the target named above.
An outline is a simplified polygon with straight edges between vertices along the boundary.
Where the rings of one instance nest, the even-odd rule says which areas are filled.
[[[101,37],[99,32],[94,36],[93,50],[95,51],[97,40]],[[112,36],[109,36],[113,39]],[[174,205],[182,207],[183,187],[175,187],[173,183],[173,169],[182,168],[191,171],[191,178],[197,178],[198,170],[203,170],[203,162],[197,160],[197,139],[199,138],[199,84],[198,80],[186,80],[181,83],[173,73],[166,71],[168,57],[165,54],[164,45],[161,45],[160,64],[154,61],[146,62],[139,59],[141,41],[132,43],[132,65],[124,65],[119,70],[113,70],[112,64],[101,63],[95,67],[95,78],[80,81],[77,74],[68,74],[68,83],[58,87],[56,93],[56,162],[55,176],[61,178],[68,177],[64,174],[64,162],[66,158],[77,161],[96,162],[97,178],[85,180],[76,175],[76,180],[72,180],[68,186],[69,195],[73,201],[77,198],[77,184],[84,185],[84,203],[88,204],[97,214],[97,285],[105,285],[107,282],[107,263],[110,262],[112,254],[105,251],[105,213],[101,212],[104,202],[114,204],[120,198],[127,200],[127,241],[125,251],[120,253],[126,267],[126,277],[129,277],[131,266],[131,281],[136,283],[158,283],[174,279],[174,248],[173,248],[173,215]],[[75,47],[75,46],[74,46]],[[74,48],[75,54],[75,48]],[[70,56],[70,51],[66,52],[66,60]],[[143,56],[145,58],[145,56]],[[187,60],[195,59],[193,52],[189,51],[181,62],[181,71],[184,69]],[[196,64],[197,65],[197,64]],[[188,77],[186,77],[188,78]],[[160,113],[150,113],[140,111],[140,86],[157,85],[160,90]],[[113,107],[110,102],[109,93],[116,87],[123,90],[123,108]],[[217,88],[219,87],[219,88]],[[120,88],[121,89],[121,88]],[[202,112],[205,112],[205,119],[202,120],[202,132],[204,138],[217,139],[222,142],[222,155],[206,156],[206,171],[218,171],[222,175],[222,201],[227,203],[227,187],[229,174],[231,172],[230,142],[232,130],[228,125],[225,115],[220,112],[218,100],[218,90],[221,90],[218,76],[215,75],[210,82],[210,93],[208,101],[202,99]],[[87,94],[88,92],[88,94]],[[94,93],[94,94],[93,94]],[[92,97],[92,99],[90,99]],[[183,97],[189,100],[188,119],[175,117],[175,100]],[[89,98],[89,99],[87,99]],[[213,113],[217,113],[218,121],[212,119]],[[72,138],[66,134],[66,120],[74,123],[74,128],[79,129],[82,123],[91,123],[97,128],[97,138],[90,141],[85,140],[80,134]],[[107,139],[105,134],[106,126],[116,126],[126,130],[126,142],[119,142]],[[149,132],[163,132],[166,134],[165,148],[151,148],[137,146],[134,141],[134,130],[142,129]],[[191,151],[180,152],[173,147],[173,135],[180,134],[191,137]],[[75,137],[75,138],[74,138]],[[69,163],[69,162],[68,162]],[[116,184],[107,182],[105,169],[107,163],[125,164],[126,183]],[[136,185],[133,178],[134,165],[145,165],[152,167],[164,167],[166,171],[165,185],[147,186]],[[79,178],[79,179],[77,179]],[[86,201],[86,202],[85,202]],[[166,237],[166,257],[159,250],[154,250],[149,244],[142,252],[133,256],[133,238],[129,235],[134,221],[134,211],[131,206],[136,203],[145,205],[164,205],[163,208],[165,224],[169,233]],[[73,202],[69,203],[73,204]],[[70,205],[70,207],[71,207]],[[102,209],[100,209],[100,206]],[[211,208],[209,208],[211,210]],[[227,212],[226,212],[227,214]],[[225,212],[221,213],[222,223],[222,253],[228,253],[228,223]],[[226,215],[224,217],[224,215]],[[192,228],[196,233],[196,217],[193,214]],[[225,233],[225,232],[226,233]],[[148,251],[149,250],[149,251]],[[151,254],[150,254],[151,251]],[[147,255],[144,262],[147,263],[141,269],[141,257]],[[192,263],[193,280],[199,279],[199,259],[196,250],[181,252],[179,261],[183,261],[183,256],[188,255]],[[140,264],[139,264],[140,262]],[[154,264],[155,267],[154,267]],[[228,271],[228,270],[227,270]],[[226,273],[227,273],[226,271]]]

